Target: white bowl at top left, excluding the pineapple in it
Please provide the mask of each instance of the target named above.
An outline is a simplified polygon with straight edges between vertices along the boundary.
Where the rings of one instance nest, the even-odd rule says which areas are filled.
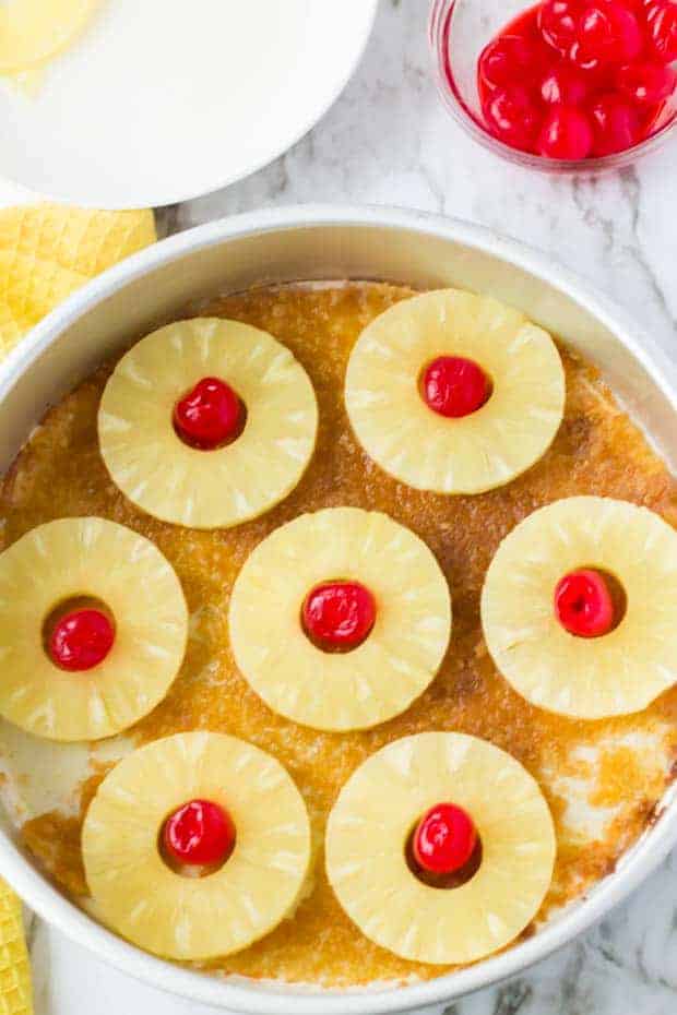
[[[35,94],[0,75],[0,175],[103,208],[174,204],[226,187],[324,116],[357,67],[377,5],[98,2],[86,31],[45,65]]]

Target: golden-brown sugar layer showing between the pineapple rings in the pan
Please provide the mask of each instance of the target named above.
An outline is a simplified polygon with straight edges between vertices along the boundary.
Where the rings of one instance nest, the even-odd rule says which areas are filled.
[[[312,891],[295,917],[238,955],[211,964],[254,978],[326,986],[429,978],[440,967],[408,963],[368,942],[343,913],[323,872],[320,844],[340,788],[369,754],[408,733],[460,730],[513,754],[550,803],[559,851],[539,919],[613,870],[651,819],[677,756],[677,690],[620,719],[568,720],[532,707],[495,669],[479,623],[486,569],[502,537],[536,507],[578,493],[626,499],[677,524],[677,485],[623,415],[597,372],[561,350],[567,407],[543,459],[507,487],[448,498],[384,475],[351,432],[343,405],[347,358],[360,330],[404,288],[380,284],[251,290],[200,307],[271,332],[308,371],[320,428],[310,467],[277,507],[230,530],[192,532],[139,512],[116,489],[98,452],[96,411],[112,365],[52,409],[0,491],[0,533],[9,546],[56,517],[97,514],[152,539],[178,573],[191,611],[186,661],[165,701],[132,731],[139,743],[179,730],[211,729],[274,754],[308,804],[316,837]],[[189,313],[195,312],[194,308]],[[387,512],[436,554],[453,598],[451,647],[438,677],[404,715],[366,732],[322,733],[272,713],[236,669],[227,612],[234,580],[251,549],[306,511],[355,505]],[[92,786],[83,788],[88,799]],[[82,820],[50,812],[24,826],[26,846],[70,894],[83,889]]]

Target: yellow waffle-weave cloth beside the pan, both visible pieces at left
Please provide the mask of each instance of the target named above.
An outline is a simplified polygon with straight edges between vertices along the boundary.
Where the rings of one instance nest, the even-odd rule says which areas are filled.
[[[0,211],[0,359],[94,275],[157,239],[153,213],[36,204]],[[21,903],[0,879],[0,1015],[32,1015]]]

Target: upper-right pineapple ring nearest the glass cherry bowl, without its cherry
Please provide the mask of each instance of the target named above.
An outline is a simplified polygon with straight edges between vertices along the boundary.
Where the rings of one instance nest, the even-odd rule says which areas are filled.
[[[488,401],[448,419],[418,380],[438,356],[472,359],[489,375]],[[403,300],[364,330],[351,354],[345,404],[355,434],[384,471],[417,490],[482,493],[510,482],[550,445],[565,410],[555,343],[518,310],[440,289]]]

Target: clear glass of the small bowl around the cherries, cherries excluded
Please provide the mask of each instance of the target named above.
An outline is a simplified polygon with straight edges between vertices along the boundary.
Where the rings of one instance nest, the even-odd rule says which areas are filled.
[[[666,100],[649,138],[614,155],[575,160],[545,158],[510,147],[489,133],[477,89],[477,59],[487,43],[530,5],[530,0],[432,0],[428,31],[435,76],[442,101],[456,122],[496,155],[543,172],[622,169],[661,147],[677,124],[677,93]]]

